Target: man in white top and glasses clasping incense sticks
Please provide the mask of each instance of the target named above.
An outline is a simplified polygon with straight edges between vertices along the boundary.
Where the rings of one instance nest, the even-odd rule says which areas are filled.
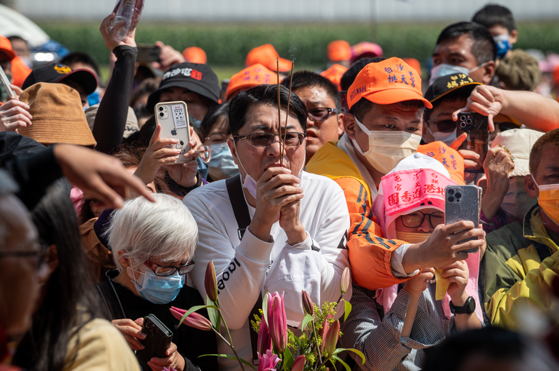
[[[284,86],[279,98],[280,107],[278,86],[260,85],[231,100],[228,146],[240,175],[198,188],[183,200],[198,223],[192,281],[205,298],[205,269],[214,262],[223,315],[245,360],[258,359],[249,318],[266,292],[284,292],[287,324],[300,328],[301,290],[318,305],[337,301],[349,266],[344,193],[331,179],[303,171],[305,104],[295,94],[289,97]],[[350,297],[351,291],[344,294]],[[341,307],[336,312],[341,315]],[[230,351],[224,342],[218,348],[220,354]],[[219,368],[233,370],[238,363],[219,358]]]

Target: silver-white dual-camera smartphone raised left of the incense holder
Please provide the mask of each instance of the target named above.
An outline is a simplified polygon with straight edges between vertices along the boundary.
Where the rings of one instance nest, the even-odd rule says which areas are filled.
[[[190,151],[190,123],[187,104],[184,102],[161,102],[155,105],[155,122],[161,124],[161,138],[173,138],[179,142],[175,148],[180,149],[175,164],[182,164],[189,159],[184,153]]]

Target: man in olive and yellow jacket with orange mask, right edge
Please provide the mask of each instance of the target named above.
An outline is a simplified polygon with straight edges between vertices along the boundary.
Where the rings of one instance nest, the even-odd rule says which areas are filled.
[[[491,324],[516,329],[528,307],[557,314],[551,297],[559,275],[559,129],[537,139],[530,151],[530,174],[524,177],[530,197],[537,197],[522,222],[486,236],[480,267],[481,292]],[[555,281],[556,282],[556,281]],[[556,326],[556,316],[551,326]]]

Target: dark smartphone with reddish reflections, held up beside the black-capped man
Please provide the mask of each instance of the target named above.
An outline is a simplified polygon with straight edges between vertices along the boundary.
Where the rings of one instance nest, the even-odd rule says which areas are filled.
[[[465,169],[464,171],[482,173],[484,172],[483,165],[489,148],[489,126],[487,116],[478,114],[477,112],[459,112],[456,136],[460,137],[463,132],[467,134],[467,138],[463,144],[460,145],[459,149],[474,151],[479,155],[479,160],[477,160],[479,167],[477,169]]]

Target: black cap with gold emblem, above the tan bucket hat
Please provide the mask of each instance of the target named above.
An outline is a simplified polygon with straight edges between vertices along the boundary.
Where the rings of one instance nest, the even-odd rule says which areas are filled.
[[[85,93],[89,96],[97,89],[97,77],[90,70],[73,70],[65,64],[52,63],[47,66],[34,68],[27,79],[23,82],[22,89],[38,82],[63,82],[74,81],[82,86]]]

